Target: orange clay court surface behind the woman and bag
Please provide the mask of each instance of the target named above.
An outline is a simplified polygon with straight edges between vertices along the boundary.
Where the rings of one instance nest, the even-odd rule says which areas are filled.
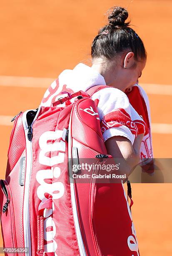
[[[147,49],[140,83],[150,99],[154,157],[172,157],[171,0],[10,0],[0,5],[0,178],[5,177],[10,116],[37,108],[63,69],[90,63],[90,45],[113,5],[129,10]],[[172,255],[172,184],[132,184],[132,195],[140,255]]]

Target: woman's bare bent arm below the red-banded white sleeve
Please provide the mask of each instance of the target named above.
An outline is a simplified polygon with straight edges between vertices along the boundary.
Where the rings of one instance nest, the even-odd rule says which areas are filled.
[[[114,136],[105,141],[107,153],[120,159],[120,174],[128,177],[140,162],[140,146],[144,134],[139,134],[132,145],[131,141],[122,136]]]

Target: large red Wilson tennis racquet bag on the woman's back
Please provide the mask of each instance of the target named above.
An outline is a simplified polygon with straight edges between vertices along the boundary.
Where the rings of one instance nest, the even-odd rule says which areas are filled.
[[[107,157],[88,96],[80,91],[15,117],[0,181],[5,255],[140,255],[122,183],[76,183],[70,176],[74,161]]]

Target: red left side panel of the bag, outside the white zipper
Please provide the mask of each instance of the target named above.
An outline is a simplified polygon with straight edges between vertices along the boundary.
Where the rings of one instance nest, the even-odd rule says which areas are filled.
[[[7,170],[4,184],[7,190],[9,204],[7,210],[2,212],[2,208],[7,202],[7,198],[0,186],[0,215],[1,230],[3,236],[3,246],[10,248],[24,248],[23,235],[23,197],[24,186],[19,184],[21,165],[25,166],[25,133],[22,127],[22,114],[15,118],[14,126],[10,136],[10,146],[8,149]],[[24,184],[24,179],[23,179]],[[5,255],[11,255],[5,253]],[[17,254],[22,256],[23,253]]]

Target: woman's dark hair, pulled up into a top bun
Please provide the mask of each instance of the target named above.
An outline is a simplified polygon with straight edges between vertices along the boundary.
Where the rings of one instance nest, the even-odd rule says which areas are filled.
[[[128,12],[125,8],[115,6],[110,9],[107,25],[100,28],[92,42],[92,58],[112,59],[117,54],[129,50],[135,54],[135,60],[146,59],[142,39],[130,28],[130,22],[125,22],[127,18]]]

